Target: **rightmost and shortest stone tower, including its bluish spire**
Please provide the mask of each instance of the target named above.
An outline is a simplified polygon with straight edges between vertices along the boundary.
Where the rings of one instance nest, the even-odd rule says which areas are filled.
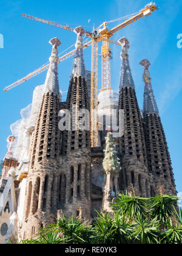
[[[151,196],[158,194],[157,185],[163,185],[164,193],[176,195],[174,175],[170,161],[170,155],[167,148],[166,137],[161,124],[158,107],[153,96],[151,78],[149,74],[149,60],[142,60],[144,88],[144,122],[145,137],[147,149],[147,162],[149,172],[153,176],[151,180]]]

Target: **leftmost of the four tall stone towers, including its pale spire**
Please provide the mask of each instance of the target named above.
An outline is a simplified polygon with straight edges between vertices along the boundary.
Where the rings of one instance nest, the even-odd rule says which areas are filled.
[[[59,122],[58,38],[52,44],[44,94],[30,145],[22,239],[30,238],[46,223],[55,222],[56,188],[61,153]]]

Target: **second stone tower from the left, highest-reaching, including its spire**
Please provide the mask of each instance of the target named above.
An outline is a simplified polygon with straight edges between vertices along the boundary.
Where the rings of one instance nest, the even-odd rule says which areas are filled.
[[[82,27],[76,27],[76,52],[67,94],[70,129],[63,132],[61,168],[66,169],[66,204],[64,213],[90,219],[91,152],[89,99],[83,59]],[[84,121],[83,121],[84,118]]]

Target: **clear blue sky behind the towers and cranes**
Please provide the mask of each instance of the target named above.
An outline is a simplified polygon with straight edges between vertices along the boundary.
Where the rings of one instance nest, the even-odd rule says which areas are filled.
[[[148,0],[149,1],[149,0]],[[44,84],[45,73],[4,92],[2,89],[39,68],[49,59],[50,38],[58,37],[62,45],[59,52],[75,43],[73,32],[58,29],[21,17],[22,13],[37,16],[59,24],[85,26],[92,30],[93,24],[99,26],[103,21],[110,21],[121,16],[135,13],[142,9],[147,0],[100,0],[100,1],[8,1],[0,0],[0,34],[4,37],[4,48],[0,48],[0,97],[1,97],[1,132],[0,159],[4,158],[6,139],[10,135],[10,124],[20,119],[21,108],[32,101],[33,89]],[[148,59],[152,77],[152,86],[160,109],[161,120],[166,133],[169,152],[174,168],[177,190],[182,191],[181,172],[181,101],[182,101],[182,48],[177,48],[177,35],[182,33],[182,1],[158,0],[160,7],[147,18],[141,18],[130,26],[120,30],[112,40],[126,37],[130,42],[129,58],[135,82],[140,108],[143,108],[144,84],[142,59]],[[90,22],[88,22],[90,20]],[[110,23],[112,28],[118,23]],[[112,49],[111,76],[112,88],[118,90],[121,59],[120,46],[110,45]],[[101,45],[99,45],[99,53]],[[91,49],[84,50],[86,68],[90,70]],[[59,64],[59,85],[62,91],[69,86],[72,69],[70,58]],[[101,87],[101,60],[99,59],[99,88]],[[63,94],[63,99],[66,94]]]

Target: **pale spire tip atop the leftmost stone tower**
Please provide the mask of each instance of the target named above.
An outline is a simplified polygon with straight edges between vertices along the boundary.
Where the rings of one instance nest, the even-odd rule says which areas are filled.
[[[52,38],[49,41],[52,44],[52,54],[50,55],[49,69],[45,79],[45,93],[55,93],[59,97],[59,81],[58,81],[58,47],[61,45],[61,41],[58,38]]]

